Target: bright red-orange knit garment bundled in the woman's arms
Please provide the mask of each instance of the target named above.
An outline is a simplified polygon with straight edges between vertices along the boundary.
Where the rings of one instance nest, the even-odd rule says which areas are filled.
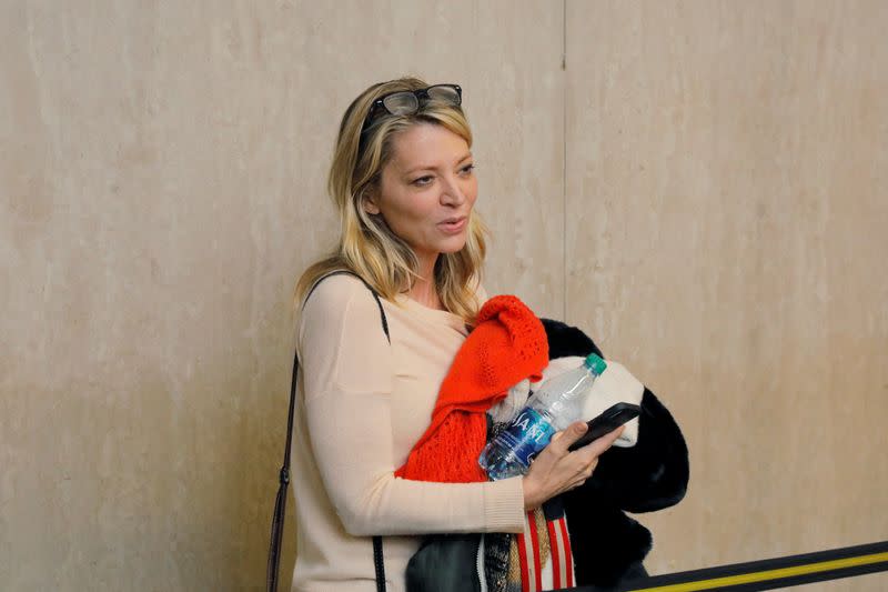
[[[486,411],[548,363],[539,319],[513,295],[490,299],[441,384],[432,423],[395,476],[414,481],[486,481],[478,455],[487,439]]]

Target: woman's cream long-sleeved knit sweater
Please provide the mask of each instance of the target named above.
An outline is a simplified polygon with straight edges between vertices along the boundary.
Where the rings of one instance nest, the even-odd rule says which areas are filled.
[[[350,275],[323,280],[300,319],[293,590],[375,590],[375,534],[385,535],[387,590],[397,592],[422,534],[523,528],[521,478],[428,483],[394,476],[430,423],[466,330],[458,317],[407,298],[383,308],[391,345],[376,301]]]

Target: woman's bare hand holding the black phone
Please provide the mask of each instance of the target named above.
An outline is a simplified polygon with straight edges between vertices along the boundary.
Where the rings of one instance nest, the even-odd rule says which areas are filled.
[[[539,508],[543,502],[559,493],[582,485],[598,464],[598,456],[610,448],[623,425],[583,448],[569,452],[567,449],[586,433],[588,427],[577,421],[563,432],[552,437],[549,444],[536,456],[531,470],[524,475],[524,509]]]

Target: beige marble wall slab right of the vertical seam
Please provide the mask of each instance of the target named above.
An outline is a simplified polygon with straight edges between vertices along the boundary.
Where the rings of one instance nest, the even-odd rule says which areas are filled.
[[[567,315],[692,451],[654,572],[888,538],[886,8],[568,2]]]

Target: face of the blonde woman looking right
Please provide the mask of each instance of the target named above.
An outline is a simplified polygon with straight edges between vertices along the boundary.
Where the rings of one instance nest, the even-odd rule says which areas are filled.
[[[427,273],[440,253],[465,244],[478,192],[472,152],[460,136],[432,123],[411,126],[394,138],[393,149],[364,208],[382,214]]]

